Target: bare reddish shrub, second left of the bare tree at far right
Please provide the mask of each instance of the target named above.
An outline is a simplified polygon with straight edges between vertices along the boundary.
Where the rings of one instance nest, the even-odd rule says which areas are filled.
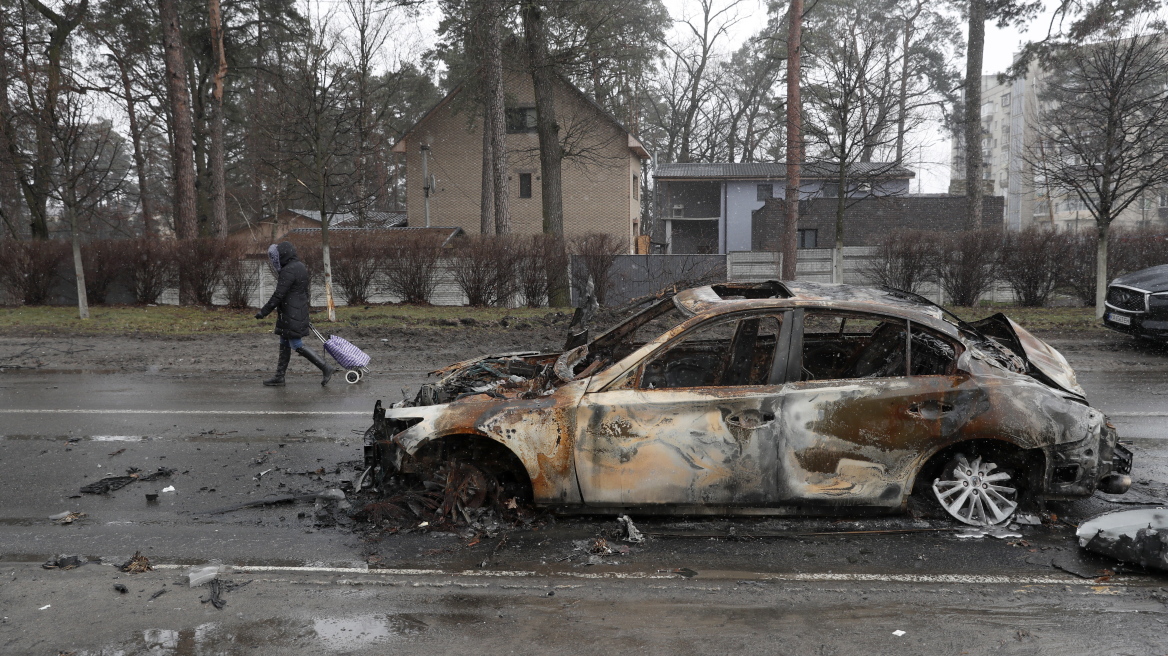
[[[976,306],[996,279],[1002,232],[966,230],[943,235],[933,252],[933,268],[953,305]]]

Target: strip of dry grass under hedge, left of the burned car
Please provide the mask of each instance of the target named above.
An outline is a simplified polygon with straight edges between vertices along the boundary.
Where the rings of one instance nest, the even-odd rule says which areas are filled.
[[[354,328],[433,326],[458,330],[465,323],[492,324],[503,317],[542,320],[563,313],[548,308],[468,308],[445,306],[357,306],[336,308],[339,324]],[[90,319],[77,319],[77,308],[62,306],[0,307],[4,335],[235,335],[271,333],[274,313],[263,321],[256,310],[202,307],[102,306],[90,308]],[[325,313],[312,316],[324,329]]]

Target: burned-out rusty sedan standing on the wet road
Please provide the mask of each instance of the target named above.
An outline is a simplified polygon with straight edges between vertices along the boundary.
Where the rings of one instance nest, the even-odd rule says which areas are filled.
[[[436,374],[378,402],[375,480],[463,463],[538,505],[674,514],[896,511],[916,491],[971,524],[1131,484],[1061,354],[896,289],[697,287],[563,353]]]

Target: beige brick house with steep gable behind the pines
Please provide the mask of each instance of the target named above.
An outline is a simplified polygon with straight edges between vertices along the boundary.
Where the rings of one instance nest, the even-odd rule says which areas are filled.
[[[566,81],[557,81],[556,119],[565,145],[562,168],[564,235],[569,238],[604,232],[633,250],[640,233],[641,161],[648,153],[616,118]],[[540,139],[535,132],[531,78],[505,74],[507,96],[507,168],[512,231],[543,231],[540,186]],[[405,155],[406,214],[411,226],[426,225],[423,191],[425,168],[434,186],[430,193],[430,225],[480,232],[482,193],[482,106],[459,85],[394,145]]]

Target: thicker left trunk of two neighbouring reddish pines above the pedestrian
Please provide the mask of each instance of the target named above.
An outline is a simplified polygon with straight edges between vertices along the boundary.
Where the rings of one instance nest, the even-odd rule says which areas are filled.
[[[187,88],[178,0],[159,0],[159,14],[162,20],[166,86],[174,132],[174,232],[180,239],[190,239],[195,236],[194,124],[190,118],[190,91]]]

